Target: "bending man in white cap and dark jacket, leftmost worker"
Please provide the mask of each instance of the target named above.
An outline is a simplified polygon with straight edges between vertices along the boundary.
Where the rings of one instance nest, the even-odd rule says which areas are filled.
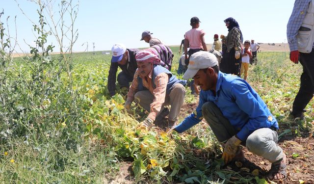
[[[108,75],[108,90],[109,95],[116,94],[116,78],[121,89],[127,90],[130,86],[130,82],[133,79],[135,70],[137,68],[135,55],[139,52],[138,49],[127,49],[123,44],[115,44],[111,49],[112,58],[110,63],[109,75]],[[117,76],[118,67],[121,68]]]

